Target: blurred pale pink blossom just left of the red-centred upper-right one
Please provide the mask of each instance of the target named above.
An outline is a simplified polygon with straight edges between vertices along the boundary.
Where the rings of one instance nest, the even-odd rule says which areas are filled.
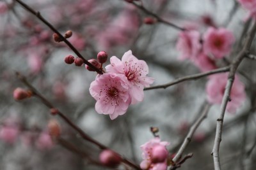
[[[181,53],[180,60],[194,59],[200,52],[202,45],[200,43],[200,33],[198,31],[180,32],[176,44],[176,49]]]

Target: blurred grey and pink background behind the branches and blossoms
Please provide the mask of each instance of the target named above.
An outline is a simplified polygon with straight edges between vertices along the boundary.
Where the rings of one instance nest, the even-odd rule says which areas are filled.
[[[122,0],[28,0],[61,33],[71,30],[68,40],[85,59],[96,59],[104,50],[121,59],[128,50],[145,60],[153,85],[200,73],[188,60],[178,60],[175,48],[180,30],[161,22],[145,24],[147,13]],[[140,4],[140,2],[138,2]],[[246,20],[246,10],[234,0],[143,0],[143,6],[180,27],[204,33],[214,23],[234,32],[232,53],[220,60],[227,65],[241,49],[244,32],[253,21]],[[211,21],[211,22],[210,22]],[[145,91],[142,103],[132,105],[125,115],[110,120],[95,111],[89,93],[96,73],[84,66],[67,65],[64,58],[74,55],[65,43],[52,40],[52,31],[38,18],[11,0],[0,0],[0,169],[107,169],[98,160],[100,150],[76,135],[60,118],[61,137],[88,154],[82,158],[51,141],[47,122],[52,118],[39,99],[13,99],[13,90],[26,87],[15,76],[19,71],[56,108],[76,122],[100,143],[140,164],[140,146],[154,138],[150,127],[158,127],[163,141],[170,142],[170,155],[177,152],[189,127],[205,106],[207,78],[185,81],[168,89]],[[211,23],[211,24],[209,24]],[[242,37],[242,39],[241,39]],[[255,42],[252,53],[255,53]],[[109,64],[107,62],[105,66]],[[225,115],[220,159],[223,169],[256,169],[255,60],[244,59],[239,78],[246,86],[246,101],[236,113]],[[214,169],[211,150],[214,143],[219,105],[212,105],[207,118],[198,127],[180,170]],[[4,138],[4,133],[8,134]],[[121,165],[116,169],[129,169]]]

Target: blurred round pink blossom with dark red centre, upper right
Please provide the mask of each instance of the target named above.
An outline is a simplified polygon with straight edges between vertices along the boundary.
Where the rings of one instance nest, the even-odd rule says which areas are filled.
[[[204,53],[221,59],[230,53],[234,41],[235,37],[231,31],[210,27],[204,34]]]

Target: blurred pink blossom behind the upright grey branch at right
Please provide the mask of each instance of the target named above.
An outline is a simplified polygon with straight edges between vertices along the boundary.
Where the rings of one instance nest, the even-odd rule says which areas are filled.
[[[209,103],[221,104],[227,80],[228,73],[214,74],[209,77],[209,81],[206,85],[207,100]],[[244,85],[239,81],[239,77],[236,76],[230,92],[231,101],[227,104],[227,111],[230,113],[236,112],[237,108],[239,108],[245,100],[245,97]]]

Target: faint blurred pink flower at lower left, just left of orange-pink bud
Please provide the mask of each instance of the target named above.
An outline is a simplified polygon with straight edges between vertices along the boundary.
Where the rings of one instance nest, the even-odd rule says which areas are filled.
[[[40,150],[51,149],[53,145],[52,138],[47,132],[42,132],[36,140],[36,147]]]

